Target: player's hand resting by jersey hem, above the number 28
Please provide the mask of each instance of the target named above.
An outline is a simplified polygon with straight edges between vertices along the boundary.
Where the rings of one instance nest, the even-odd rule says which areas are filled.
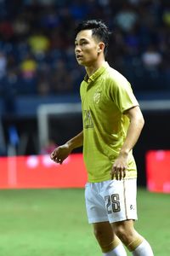
[[[122,180],[124,177],[126,177],[126,171],[127,155],[120,154],[112,166],[111,179],[116,177],[116,180]]]

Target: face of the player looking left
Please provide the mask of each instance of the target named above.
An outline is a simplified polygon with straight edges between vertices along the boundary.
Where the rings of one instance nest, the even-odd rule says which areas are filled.
[[[99,57],[99,42],[92,36],[92,30],[82,30],[75,39],[75,54],[78,64],[88,67]]]

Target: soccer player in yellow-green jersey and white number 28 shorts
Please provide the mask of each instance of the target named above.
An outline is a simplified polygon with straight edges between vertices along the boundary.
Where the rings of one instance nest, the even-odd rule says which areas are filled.
[[[81,84],[83,130],[55,148],[51,159],[62,164],[83,145],[88,171],[85,189],[88,222],[105,256],[153,256],[150,244],[134,230],[137,219],[137,170],[132,149],[144,125],[130,84],[105,61],[109,31],[102,21],[77,27],[75,54],[86,69]]]

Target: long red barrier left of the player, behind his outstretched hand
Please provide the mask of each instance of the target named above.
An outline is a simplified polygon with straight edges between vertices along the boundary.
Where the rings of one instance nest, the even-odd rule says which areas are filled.
[[[86,181],[82,154],[71,154],[62,165],[49,155],[0,158],[0,189],[82,188]]]

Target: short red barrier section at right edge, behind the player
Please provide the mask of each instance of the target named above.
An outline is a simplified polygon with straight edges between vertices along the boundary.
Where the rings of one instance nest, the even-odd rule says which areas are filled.
[[[170,150],[153,150],[146,154],[147,188],[170,193]]]

